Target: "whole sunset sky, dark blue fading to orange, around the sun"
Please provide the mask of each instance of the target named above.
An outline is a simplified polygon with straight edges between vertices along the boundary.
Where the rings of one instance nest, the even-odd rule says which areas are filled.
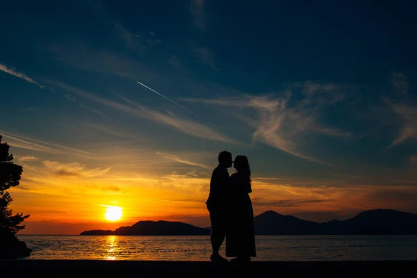
[[[2,1],[21,234],[207,227],[224,149],[249,158],[255,215],[417,213],[416,4],[315,2]]]

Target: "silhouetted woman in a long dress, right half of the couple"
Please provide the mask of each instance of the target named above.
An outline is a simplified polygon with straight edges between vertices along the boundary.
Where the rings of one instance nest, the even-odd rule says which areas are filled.
[[[252,193],[250,165],[246,156],[236,156],[236,172],[230,176],[229,217],[226,236],[226,256],[236,257],[231,262],[249,262],[256,256],[254,211],[249,194]]]

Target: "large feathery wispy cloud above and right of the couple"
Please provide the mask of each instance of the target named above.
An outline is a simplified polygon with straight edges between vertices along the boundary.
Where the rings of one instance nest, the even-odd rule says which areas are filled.
[[[291,99],[293,90],[301,90],[301,99]],[[203,102],[217,106],[236,106],[252,108],[257,112],[256,118],[243,117],[255,129],[254,141],[262,141],[272,147],[281,149],[311,161],[316,158],[305,154],[303,147],[308,142],[309,133],[325,136],[347,138],[350,133],[339,131],[318,122],[320,108],[343,100],[343,94],[332,83],[295,83],[284,90],[283,97],[263,95],[253,97],[236,97],[234,99],[183,99],[184,101]],[[240,114],[237,114],[240,115]]]

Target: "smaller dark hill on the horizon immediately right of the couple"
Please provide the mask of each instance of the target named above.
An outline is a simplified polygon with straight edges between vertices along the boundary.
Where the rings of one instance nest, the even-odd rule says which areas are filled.
[[[265,211],[255,218],[255,231],[258,235],[308,235],[318,234],[320,224],[295,218],[291,215],[281,215],[275,211]]]

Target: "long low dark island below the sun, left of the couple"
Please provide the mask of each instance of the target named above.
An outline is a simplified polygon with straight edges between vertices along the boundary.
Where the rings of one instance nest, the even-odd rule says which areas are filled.
[[[132,226],[120,227],[115,231],[83,231],[82,236],[117,235],[117,236],[206,236],[210,230],[195,227],[183,222],[139,221]]]

